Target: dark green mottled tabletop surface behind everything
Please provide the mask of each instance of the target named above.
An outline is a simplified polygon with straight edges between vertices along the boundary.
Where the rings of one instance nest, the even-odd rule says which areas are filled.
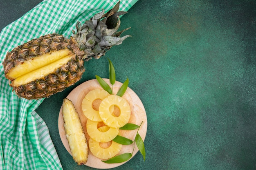
[[[39,2],[3,2],[0,29]],[[132,38],[86,62],[81,81],[36,110],[64,170],[93,169],[63,147],[58,113],[76,86],[108,78],[107,57],[148,117],[146,161],[138,153],[115,170],[256,169],[256,1],[139,0],[121,18],[121,28],[129,26]]]

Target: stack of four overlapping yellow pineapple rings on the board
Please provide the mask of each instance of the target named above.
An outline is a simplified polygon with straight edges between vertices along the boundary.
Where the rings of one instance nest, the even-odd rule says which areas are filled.
[[[110,159],[117,155],[122,145],[112,139],[130,119],[128,102],[103,89],[95,89],[85,95],[82,110],[88,118],[86,129],[90,136],[89,148],[92,154],[100,159]]]

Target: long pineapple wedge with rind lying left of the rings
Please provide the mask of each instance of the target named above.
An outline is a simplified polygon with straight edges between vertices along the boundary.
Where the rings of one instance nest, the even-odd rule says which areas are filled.
[[[69,99],[65,98],[62,106],[65,135],[73,159],[79,165],[85,164],[88,159],[88,143],[83,132],[79,115]]]

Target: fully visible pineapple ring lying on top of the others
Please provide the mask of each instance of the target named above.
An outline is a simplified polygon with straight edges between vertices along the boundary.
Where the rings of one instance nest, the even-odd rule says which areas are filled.
[[[113,110],[118,110],[119,113],[115,114]],[[130,119],[130,114],[130,105],[126,102],[126,99],[118,95],[106,97],[101,101],[99,106],[99,116],[104,124],[112,128],[120,128],[127,124]]]

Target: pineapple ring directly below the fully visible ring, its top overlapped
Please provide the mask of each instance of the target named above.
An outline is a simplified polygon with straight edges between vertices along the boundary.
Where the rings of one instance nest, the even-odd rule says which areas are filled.
[[[110,128],[103,124],[103,122],[91,121],[90,119],[87,120],[86,130],[90,138],[97,142],[111,141],[119,133],[119,128]]]

